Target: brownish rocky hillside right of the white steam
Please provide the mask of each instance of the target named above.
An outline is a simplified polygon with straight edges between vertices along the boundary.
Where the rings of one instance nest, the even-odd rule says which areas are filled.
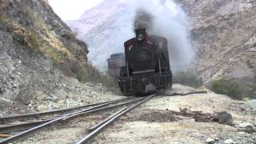
[[[196,68],[205,82],[233,78],[256,94],[256,2],[177,0],[190,18]]]

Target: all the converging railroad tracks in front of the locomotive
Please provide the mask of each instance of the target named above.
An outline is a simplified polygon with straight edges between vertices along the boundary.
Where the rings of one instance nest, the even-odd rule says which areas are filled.
[[[10,143],[10,142],[19,142],[26,138],[29,138],[33,134],[36,134],[42,130],[45,130],[49,126],[56,125],[60,122],[69,122],[71,119],[79,118],[82,116],[86,116],[88,114],[96,114],[98,112],[106,112],[107,110],[119,110],[114,115],[111,115],[109,118],[106,118],[102,122],[99,122],[98,125],[93,126],[89,129],[90,134],[86,135],[85,138],[82,138],[78,140],[77,143],[86,143],[91,138],[93,138],[98,132],[100,132],[104,127],[108,126],[111,122],[113,122],[115,119],[122,116],[122,114],[126,114],[128,111],[134,109],[136,106],[141,105],[143,102],[146,102],[150,98],[153,98],[155,94],[151,94],[148,97],[144,98],[122,98],[110,102],[102,102],[90,106],[79,106],[80,108],[72,108],[65,109],[65,110],[54,110],[50,112],[45,113],[36,113],[36,114],[24,114],[24,115],[18,115],[16,118],[20,121],[27,121],[27,119],[34,119],[34,118],[41,118],[39,121],[34,122],[24,122],[21,124],[13,125],[13,126],[2,126],[0,127],[0,134],[8,134],[10,132],[18,131],[18,130],[24,130],[21,133],[18,133],[14,136],[11,136],[10,138],[6,138],[2,140],[0,143]],[[128,102],[125,102],[128,101]],[[70,112],[72,111],[72,112]],[[62,114],[65,113],[65,114]],[[54,115],[53,114],[57,114]],[[49,117],[51,115],[51,117]],[[26,118],[26,116],[28,118]],[[46,119],[42,119],[45,116]],[[14,122],[15,117],[6,117],[6,118],[0,118],[2,122]]]

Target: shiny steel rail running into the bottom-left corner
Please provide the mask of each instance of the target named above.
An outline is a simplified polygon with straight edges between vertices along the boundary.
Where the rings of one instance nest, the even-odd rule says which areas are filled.
[[[86,109],[86,110],[81,110],[80,113],[74,112],[73,114],[64,114],[64,115],[62,115],[59,118],[54,118],[50,122],[43,123],[42,125],[35,126],[35,127],[31,128],[30,130],[26,130],[26,131],[24,131],[24,132],[22,132],[20,134],[14,135],[14,136],[12,136],[10,138],[6,138],[6,139],[2,140],[0,142],[0,144],[21,141],[21,140],[23,140],[25,138],[30,137],[32,134],[37,133],[40,130],[44,130],[48,126],[53,126],[54,124],[56,124],[58,122],[63,122],[63,121],[66,121],[66,120],[68,120],[70,118],[77,118],[78,116],[81,116],[83,114],[90,114],[90,113],[98,112],[98,111],[101,111],[101,110],[110,110],[110,109],[116,108],[118,106],[126,106],[126,105],[128,105],[130,103],[138,102],[140,100],[142,100],[142,98],[138,98],[138,99],[133,100],[131,102],[125,102],[125,103],[114,105],[114,106],[107,106],[109,104],[102,104],[105,107],[104,106],[94,106],[93,108],[89,108],[89,109]],[[112,103],[114,103],[114,102],[112,102]],[[98,107],[98,109],[96,109],[95,107]]]

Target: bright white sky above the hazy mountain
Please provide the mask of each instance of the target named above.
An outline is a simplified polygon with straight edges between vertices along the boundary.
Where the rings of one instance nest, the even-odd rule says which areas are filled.
[[[78,19],[86,10],[98,5],[103,0],[48,0],[54,12],[63,21]]]

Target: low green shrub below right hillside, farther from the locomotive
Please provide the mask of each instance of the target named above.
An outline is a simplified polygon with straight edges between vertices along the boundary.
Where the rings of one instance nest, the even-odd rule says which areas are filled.
[[[226,94],[230,98],[242,100],[244,90],[237,82],[227,79],[219,79],[211,83],[210,89],[217,94]]]

